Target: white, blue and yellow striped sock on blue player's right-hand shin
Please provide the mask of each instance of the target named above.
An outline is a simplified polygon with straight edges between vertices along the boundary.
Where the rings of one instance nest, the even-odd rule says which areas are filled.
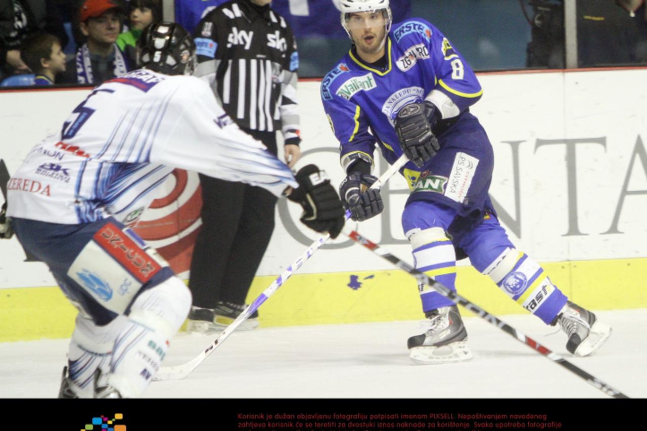
[[[517,304],[549,324],[566,302],[543,268],[523,252],[506,248],[483,274]]]

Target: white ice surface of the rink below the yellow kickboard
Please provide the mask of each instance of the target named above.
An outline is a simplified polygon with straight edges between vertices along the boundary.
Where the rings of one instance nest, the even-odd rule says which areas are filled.
[[[262,313],[262,308],[261,308]],[[613,334],[595,355],[573,358],[565,335],[529,315],[503,316],[518,331],[629,397],[647,397],[647,309],[600,311]],[[153,382],[151,398],[608,398],[583,379],[481,318],[465,318],[474,359],[423,366],[406,339],[422,321],[237,331],[186,379]],[[553,333],[553,335],[551,335]],[[164,365],[193,359],[215,335],[180,333]],[[56,397],[68,340],[0,343],[0,397]]]

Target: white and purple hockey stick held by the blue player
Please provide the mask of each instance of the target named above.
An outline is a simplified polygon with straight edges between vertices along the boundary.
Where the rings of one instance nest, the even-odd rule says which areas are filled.
[[[408,162],[408,159],[406,158],[406,155],[400,156],[399,159],[393,163],[386,172],[380,176],[377,181],[375,181],[372,185],[371,188],[378,188],[384,184]],[[349,219],[351,217],[351,212],[346,211],[345,214],[346,219]],[[317,238],[314,243],[308,247],[305,252],[299,256],[294,262],[292,262],[292,265],[287,267],[285,271],[283,271],[283,274],[278,276],[270,286],[263,291],[253,302],[252,304],[248,305],[245,310],[232,322],[229,324],[228,327],[226,327],[220,335],[215,338],[215,340],[206,348],[204,349],[197,357],[194,359],[190,360],[189,362],[186,362],[186,364],[181,364],[181,365],[176,365],[172,367],[162,367],[160,370],[157,372],[155,377],[153,377],[153,380],[156,381],[163,381],[163,380],[180,380],[184,379],[184,377],[188,376],[191,371],[195,370],[195,367],[199,366],[203,362],[206,357],[208,357],[215,348],[223,344],[225,339],[229,337],[229,335],[236,329],[241,323],[243,323],[243,320],[247,319],[254,311],[258,309],[258,307],[263,304],[269,298],[276,292],[276,290],[285,283],[285,281],[296,272],[305,261],[307,261],[311,256],[313,256],[314,252],[318,250],[328,239],[330,238],[330,234],[325,234]]]

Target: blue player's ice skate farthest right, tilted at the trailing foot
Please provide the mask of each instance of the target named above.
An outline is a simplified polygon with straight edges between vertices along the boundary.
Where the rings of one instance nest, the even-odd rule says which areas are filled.
[[[575,356],[588,356],[600,348],[611,335],[611,327],[577,304],[568,301],[557,317],[568,335],[566,349]]]

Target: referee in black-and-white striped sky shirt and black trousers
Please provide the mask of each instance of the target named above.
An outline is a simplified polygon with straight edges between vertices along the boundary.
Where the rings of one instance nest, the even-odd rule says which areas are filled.
[[[271,0],[234,0],[201,19],[195,30],[195,74],[210,83],[226,113],[275,155],[283,133],[285,161],[299,159],[296,42]],[[259,187],[200,175],[203,193],[189,287],[188,331],[228,326],[245,298],[274,230],[276,197]],[[258,326],[258,313],[240,329]],[[222,328],[220,328],[222,329]]]

